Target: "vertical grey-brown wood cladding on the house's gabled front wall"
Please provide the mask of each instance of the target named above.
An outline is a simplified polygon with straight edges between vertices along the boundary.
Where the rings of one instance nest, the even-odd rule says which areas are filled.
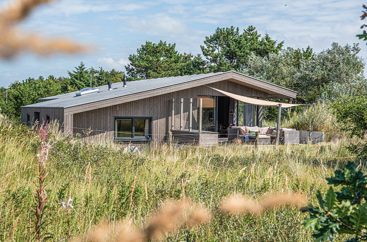
[[[247,97],[268,96],[268,93],[228,80],[210,83],[207,86]],[[172,99],[175,99],[174,128],[179,129],[180,126],[181,98],[183,98],[183,129],[189,128],[189,104],[190,98],[192,98],[192,127],[197,129],[197,96],[224,96],[207,86],[195,86],[130,102],[66,114],[63,116],[65,126],[69,127],[74,134],[83,135],[90,129],[89,135],[91,137],[103,136],[114,139],[115,117],[152,117],[152,139],[167,140],[167,132],[171,130]],[[141,141],[137,143],[141,143]]]

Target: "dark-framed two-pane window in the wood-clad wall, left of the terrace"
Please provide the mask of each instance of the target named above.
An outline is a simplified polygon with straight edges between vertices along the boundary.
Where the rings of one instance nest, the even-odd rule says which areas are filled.
[[[116,139],[152,139],[151,117],[115,117]]]

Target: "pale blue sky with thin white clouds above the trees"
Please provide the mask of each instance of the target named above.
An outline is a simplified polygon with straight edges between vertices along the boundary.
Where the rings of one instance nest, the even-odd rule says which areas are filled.
[[[0,0],[0,8],[8,1]],[[67,36],[91,43],[88,54],[37,57],[22,54],[11,61],[0,61],[0,86],[15,80],[42,75],[67,76],[80,61],[87,67],[124,71],[128,56],[145,41],[176,43],[180,53],[201,53],[205,36],[217,27],[240,29],[253,25],[264,36],[285,46],[314,51],[360,43],[360,56],[366,59],[366,42],[355,35],[360,26],[363,1],[94,1],[60,0],[37,8],[20,26],[27,32],[45,36]],[[285,6],[287,4],[287,6]]]

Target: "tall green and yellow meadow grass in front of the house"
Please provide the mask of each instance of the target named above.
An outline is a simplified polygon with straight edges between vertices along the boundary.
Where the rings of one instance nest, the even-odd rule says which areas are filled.
[[[45,181],[50,209],[45,231],[53,234],[52,241],[68,241],[68,236],[85,241],[97,225],[105,223],[113,227],[129,221],[142,228],[164,202],[183,200],[183,182],[185,200],[206,207],[212,216],[197,227],[184,226],[166,234],[162,241],[186,241],[187,235],[188,241],[197,242],[313,241],[312,231],[302,226],[306,215],[299,206],[231,215],[219,209],[222,199],[232,194],[262,199],[296,193],[317,204],[316,190],[323,193],[328,188],[324,178],[354,159],[345,148],[348,139],[277,147],[156,143],[141,154],[125,153],[116,143],[82,142],[57,129],[52,139],[57,143],[47,160],[50,173]],[[0,147],[0,240],[34,241],[30,206],[35,204],[40,138],[26,127],[3,121]],[[361,165],[362,171],[366,168]],[[69,214],[61,206],[68,197],[75,208]],[[113,236],[106,239],[113,241]],[[336,241],[345,239],[336,236]]]

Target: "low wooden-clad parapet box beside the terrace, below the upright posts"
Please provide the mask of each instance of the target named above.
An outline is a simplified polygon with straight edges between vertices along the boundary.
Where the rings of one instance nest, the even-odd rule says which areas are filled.
[[[200,146],[212,146],[218,143],[218,133],[209,131],[188,131],[171,129],[172,139],[180,144],[197,144]]]

